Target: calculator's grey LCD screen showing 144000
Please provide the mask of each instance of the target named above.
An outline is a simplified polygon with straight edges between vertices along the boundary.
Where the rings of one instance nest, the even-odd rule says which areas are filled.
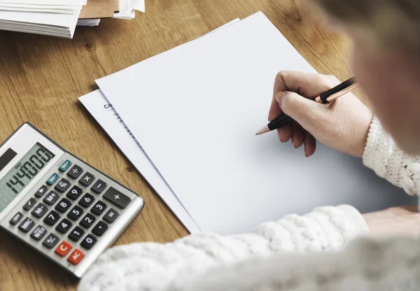
[[[52,152],[41,143],[36,143],[13,169],[6,173],[6,176],[0,180],[0,213],[52,161],[53,157],[55,155]]]

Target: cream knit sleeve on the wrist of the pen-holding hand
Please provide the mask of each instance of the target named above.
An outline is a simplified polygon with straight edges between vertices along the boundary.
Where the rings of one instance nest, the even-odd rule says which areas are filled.
[[[363,164],[407,194],[420,194],[420,157],[402,152],[376,117],[370,125]]]

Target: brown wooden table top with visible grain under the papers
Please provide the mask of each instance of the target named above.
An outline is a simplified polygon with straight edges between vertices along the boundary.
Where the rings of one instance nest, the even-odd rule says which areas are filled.
[[[146,200],[117,244],[169,242],[188,234],[78,97],[96,78],[262,10],[320,73],[349,77],[347,42],[322,26],[305,0],[146,0],[135,20],[102,20],[72,40],[0,32],[0,141],[30,121],[70,152]],[[281,51],[279,51],[281,57]],[[274,79],[274,76],[273,76]],[[267,108],[268,111],[268,108]],[[0,290],[74,290],[55,264],[0,230]]]

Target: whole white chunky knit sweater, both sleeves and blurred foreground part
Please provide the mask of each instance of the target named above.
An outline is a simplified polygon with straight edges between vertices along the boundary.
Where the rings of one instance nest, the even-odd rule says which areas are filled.
[[[401,152],[376,118],[363,162],[408,194],[420,193],[420,159]],[[97,260],[79,290],[420,290],[419,243],[365,238],[343,249],[363,234],[367,225],[355,208],[328,206],[251,234],[118,246]]]

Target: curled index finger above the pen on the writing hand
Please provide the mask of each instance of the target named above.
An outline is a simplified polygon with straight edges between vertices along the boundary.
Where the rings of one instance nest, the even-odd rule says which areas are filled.
[[[281,71],[274,81],[273,95],[281,91],[296,92],[306,98],[316,97],[339,84],[333,76],[318,73],[302,73],[297,71]]]

